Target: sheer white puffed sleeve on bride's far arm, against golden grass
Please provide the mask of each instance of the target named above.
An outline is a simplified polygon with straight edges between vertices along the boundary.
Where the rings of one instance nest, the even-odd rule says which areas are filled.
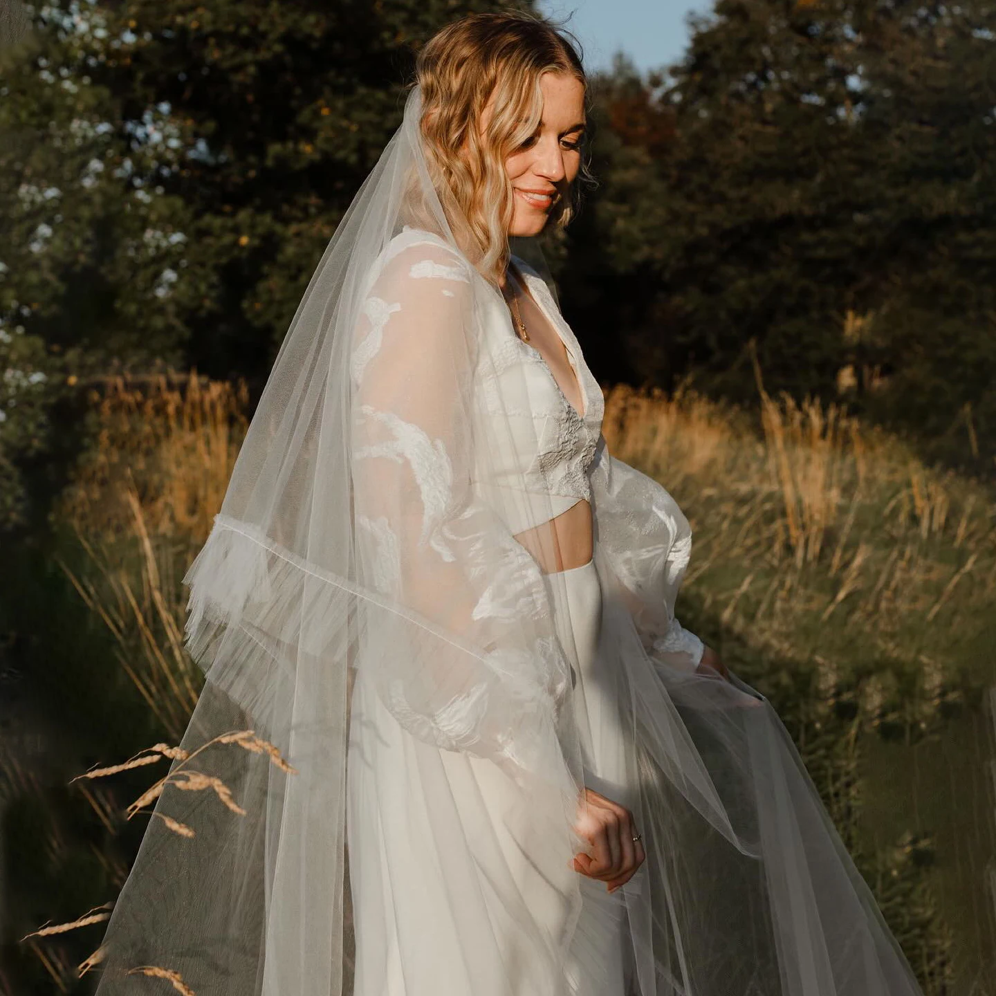
[[[681,670],[693,670],[704,644],[674,615],[691,555],[691,527],[651,477],[611,456],[599,438],[592,490],[600,547],[607,553],[644,647]]]

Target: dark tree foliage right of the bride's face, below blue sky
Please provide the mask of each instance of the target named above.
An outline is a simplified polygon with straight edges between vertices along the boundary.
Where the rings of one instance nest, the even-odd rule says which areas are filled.
[[[739,400],[754,341],[769,388],[991,471],[996,8],[718,0],[692,28],[668,74],[599,81],[579,336],[622,340],[624,378]]]

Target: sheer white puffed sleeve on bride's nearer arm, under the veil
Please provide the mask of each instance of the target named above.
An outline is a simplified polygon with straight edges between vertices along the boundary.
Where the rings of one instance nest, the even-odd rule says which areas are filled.
[[[570,672],[536,636],[549,614],[536,562],[472,487],[467,265],[410,245],[364,299],[351,372],[358,571],[398,612],[361,666],[410,732],[514,769],[549,733]]]

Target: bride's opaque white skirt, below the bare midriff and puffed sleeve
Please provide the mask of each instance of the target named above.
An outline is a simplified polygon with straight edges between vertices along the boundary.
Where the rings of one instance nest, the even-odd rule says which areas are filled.
[[[595,561],[560,572],[550,592],[577,713],[591,733],[586,781],[609,795],[623,731],[610,700],[614,683],[598,673]],[[622,890],[610,894],[605,882],[572,869],[580,911],[566,904],[563,881],[548,881],[504,833],[514,801],[506,775],[490,761],[412,737],[362,673],[349,756],[355,996],[622,996],[629,949]],[[514,922],[520,901],[529,928]],[[530,933],[539,925],[548,937],[567,937],[571,923],[564,976],[545,978],[547,959],[534,956]]]

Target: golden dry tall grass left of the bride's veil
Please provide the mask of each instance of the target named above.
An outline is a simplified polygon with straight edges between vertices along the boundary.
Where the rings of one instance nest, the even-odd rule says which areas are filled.
[[[117,377],[93,395],[96,445],[57,517],[86,551],[60,562],[114,635],[119,663],[178,739],[199,691],[179,577],[203,543],[246,427],[244,384]]]

